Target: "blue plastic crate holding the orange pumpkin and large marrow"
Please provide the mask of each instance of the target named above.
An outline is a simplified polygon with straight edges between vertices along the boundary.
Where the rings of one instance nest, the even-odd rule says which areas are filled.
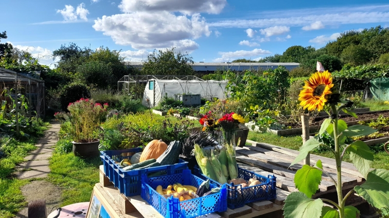
[[[131,159],[131,156],[123,156],[122,154],[131,152],[141,152],[141,148],[132,148],[124,150],[101,151],[101,159],[104,164],[104,173],[109,178],[109,181],[117,187],[120,193],[126,197],[131,197],[141,194],[141,175],[149,175],[152,172],[164,172],[167,175],[181,173],[187,169],[188,162],[178,159],[178,163],[174,165],[165,165],[159,167],[151,167],[143,170],[124,171],[119,164],[115,163],[122,161],[124,158]],[[150,176],[150,175],[149,175]]]

